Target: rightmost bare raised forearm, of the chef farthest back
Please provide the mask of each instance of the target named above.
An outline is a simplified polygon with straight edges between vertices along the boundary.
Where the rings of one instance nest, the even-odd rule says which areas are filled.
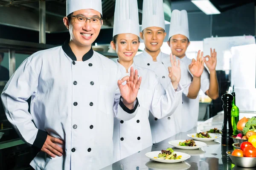
[[[210,85],[208,90],[208,96],[211,99],[217,99],[218,98],[218,79],[216,71],[210,71]]]

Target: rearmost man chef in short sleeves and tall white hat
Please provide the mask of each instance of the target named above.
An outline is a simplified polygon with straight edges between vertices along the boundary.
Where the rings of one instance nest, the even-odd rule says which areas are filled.
[[[172,54],[175,54],[180,58],[182,65],[181,68],[181,84],[184,91],[182,96],[182,114],[186,118],[182,119],[182,131],[186,132],[197,125],[198,112],[199,112],[199,95],[191,96],[190,93],[198,94],[201,89],[206,95],[212,99],[218,98],[218,80],[216,76],[216,52],[215,49],[211,49],[211,57],[206,56],[208,60],[205,61],[208,71],[201,67],[201,74],[193,73],[191,64],[195,62],[195,59],[189,59],[186,57],[186,49],[189,46],[189,23],[186,10],[173,10],[169,29],[169,41],[168,45],[172,50]],[[198,56],[200,51],[198,51]],[[201,53],[202,54],[202,53]],[[203,54],[202,54],[203,55]]]

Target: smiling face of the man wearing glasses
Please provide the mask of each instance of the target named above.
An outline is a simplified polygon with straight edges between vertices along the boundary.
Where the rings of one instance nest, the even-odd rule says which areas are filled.
[[[79,11],[73,12],[72,15],[81,15],[84,17],[101,17],[101,14],[93,9],[81,9]],[[63,21],[65,26],[69,29],[70,41],[73,41],[74,44],[78,46],[91,46],[98,37],[100,28],[103,24],[103,21],[101,21],[99,25],[95,25],[90,23],[90,20],[87,20],[86,23],[77,23],[75,21],[75,17],[71,17],[70,23],[68,23],[67,17],[64,17]]]

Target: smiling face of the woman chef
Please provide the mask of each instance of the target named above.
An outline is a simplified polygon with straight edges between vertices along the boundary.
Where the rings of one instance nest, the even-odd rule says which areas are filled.
[[[111,47],[116,51],[119,62],[132,61],[140,46],[139,37],[130,33],[118,34],[115,41],[111,41]]]

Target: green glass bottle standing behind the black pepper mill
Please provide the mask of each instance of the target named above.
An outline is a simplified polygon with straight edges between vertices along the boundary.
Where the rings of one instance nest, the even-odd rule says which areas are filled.
[[[233,127],[233,134],[237,135],[238,131],[236,129],[237,122],[239,121],[239,108],[236,106],[236,93],[234,91],[234,85],[233,85],[233,91],[231,93],[234,97],[232,102],[232,110],[231,110],[231,124]]]

